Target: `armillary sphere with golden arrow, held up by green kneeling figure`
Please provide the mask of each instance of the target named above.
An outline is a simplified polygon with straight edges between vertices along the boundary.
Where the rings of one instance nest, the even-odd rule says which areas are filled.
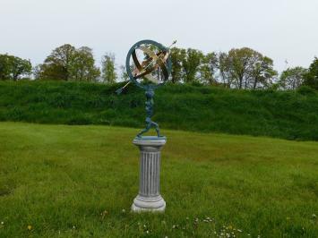
[[[175,44],[176,41],[170,47]],[[137,137],[141,137],[150,128],[154,128],[157,136],[160,137],[158,123],[151,121],[153,97],[154,90],[168,81],[171,72],[170,47],[164,47],[156,41],[145,39],[134,44],[127,54],[125,67],[130,81],[123,88],[117,89],[116,92],[121,93],[130,82],[145,90],[146,127],[138,133]]]

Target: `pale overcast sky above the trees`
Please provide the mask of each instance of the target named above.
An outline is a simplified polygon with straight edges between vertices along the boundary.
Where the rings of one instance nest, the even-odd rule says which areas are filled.
[[[138,40],[203,52],[251,47],[288,66],[318,56],[317,0],[0,0],[0,54],[42,63],[65,43],[125,64]]]

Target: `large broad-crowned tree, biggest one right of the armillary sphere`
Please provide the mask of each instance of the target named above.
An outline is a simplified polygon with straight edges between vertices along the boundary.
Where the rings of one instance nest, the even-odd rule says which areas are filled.
[[[277,75],[271,58],[247,47],[219,54],[219,72],[223,83],[237,89],[268,87]]]

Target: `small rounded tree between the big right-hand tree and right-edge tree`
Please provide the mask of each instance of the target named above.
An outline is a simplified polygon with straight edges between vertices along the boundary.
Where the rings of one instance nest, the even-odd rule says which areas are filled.
[[[283,89],[297,89],[303,84],[306,72],[307,70],[300,66],[288,68],[281,72],[279,86]]]

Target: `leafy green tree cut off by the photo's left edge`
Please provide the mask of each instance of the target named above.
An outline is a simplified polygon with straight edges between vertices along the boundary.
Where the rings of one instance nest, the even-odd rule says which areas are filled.
[[[13,55],[0,55],[0,79],[17,81],[32,71],[30,60]]]

